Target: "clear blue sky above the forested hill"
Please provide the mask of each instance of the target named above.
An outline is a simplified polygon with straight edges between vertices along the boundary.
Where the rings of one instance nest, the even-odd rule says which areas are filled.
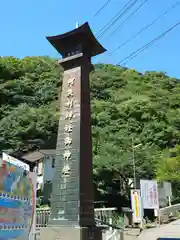
[[[59,58],[59,54],[46,40],[70,31],[76,22],[89,22],[95,36],[114,17],[129,0],[111,0],[102,12],[94,16],[106,0],[1,0],[0,2],[0,55],[15,56],[50,56]],[[144,0],[120,18],[106,34],[99,37],[107,52],[95,57],[93,63],[117,64],[129,54],[157,37],[180,21],[180,5],[156,24],[140,34],[136,39],[114,52],[141,28],[161,16],[177,0],[148,0],[143,7],[113,37],[108,35],[116,29]],[[180,78],[180,26],[156,42],[125,66],[140,72],[163,71],[171,77]]]

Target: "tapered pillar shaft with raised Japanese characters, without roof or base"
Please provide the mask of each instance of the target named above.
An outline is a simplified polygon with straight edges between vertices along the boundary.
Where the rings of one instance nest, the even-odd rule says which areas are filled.
[[[79,64],[64,71],[50,224],[94,223],[90,62],[82,57]]]

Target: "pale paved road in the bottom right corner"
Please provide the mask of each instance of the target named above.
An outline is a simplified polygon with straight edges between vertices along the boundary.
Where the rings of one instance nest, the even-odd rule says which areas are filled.
[[[137,240],[157,240],[159,237],[180,238],[180,220],[162,225],[157,228],[144,230]]]

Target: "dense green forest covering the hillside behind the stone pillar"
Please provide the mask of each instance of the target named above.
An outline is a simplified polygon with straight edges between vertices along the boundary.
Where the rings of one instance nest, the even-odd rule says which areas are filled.
[[[96,199],[129,200],[132,146],[138,178],[169,180],[180,196],[180,81],[97,64],[90,76]],[[0,151],[56,140],[63,69],[49,57],[0,58]],[[116,197],[116,198],[115,198]]]

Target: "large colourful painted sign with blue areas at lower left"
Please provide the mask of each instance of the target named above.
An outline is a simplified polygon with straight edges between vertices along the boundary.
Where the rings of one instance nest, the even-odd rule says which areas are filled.
[[[29,239],[35,205],[29,166],[3,154],[0,161],[0,240]]]

